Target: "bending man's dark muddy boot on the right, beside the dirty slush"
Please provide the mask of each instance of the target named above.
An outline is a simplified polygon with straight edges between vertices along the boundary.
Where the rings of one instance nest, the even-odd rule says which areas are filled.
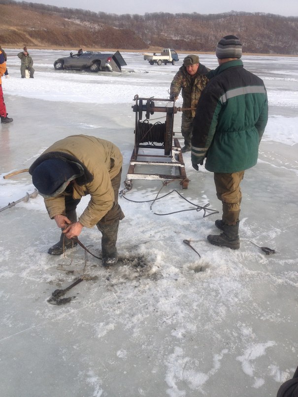
[[[119,228],[119,219],[112,224],[98,223],[97,227],[102,234],[102,266],[115,265],[118,261],[116,243]]]

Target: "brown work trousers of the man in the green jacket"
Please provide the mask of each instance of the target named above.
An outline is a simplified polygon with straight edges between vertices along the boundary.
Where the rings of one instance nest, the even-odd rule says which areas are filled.
[[[235,225],[239,220],[242,194],[240,182],[244,171],[232,174],[214,173],[217,198],[223,203],[222,220],[225,225]]]

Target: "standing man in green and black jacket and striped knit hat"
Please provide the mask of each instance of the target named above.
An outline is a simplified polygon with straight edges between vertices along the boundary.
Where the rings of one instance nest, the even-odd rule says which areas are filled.
[[[242,44],[229,35],[216,47],[219,66],[208,73],[194,119],[192,165],[214,173],[216,194],[222,201],[223,231],[209,235],[209,243],[232,249],[240,247],[240,182],[244,171],[256,165],[259,143],[268,120],[267,93],[263,80],[243,67]]]

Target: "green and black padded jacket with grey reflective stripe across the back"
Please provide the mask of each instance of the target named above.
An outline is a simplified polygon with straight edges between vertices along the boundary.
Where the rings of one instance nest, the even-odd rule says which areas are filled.
[[[240,60],[223,63],[212,73],[194,119],[194,146],[208,149],[205,168],[232,173],[253,167],[267,122],[263,81]]]

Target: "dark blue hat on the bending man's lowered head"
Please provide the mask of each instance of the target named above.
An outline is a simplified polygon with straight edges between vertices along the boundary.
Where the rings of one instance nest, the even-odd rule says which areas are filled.
[[[32,173],[32,182],[41,196],[57,197],[73,179],[83,175],[78,163],[66,162],[61,158],[42,161]]]

